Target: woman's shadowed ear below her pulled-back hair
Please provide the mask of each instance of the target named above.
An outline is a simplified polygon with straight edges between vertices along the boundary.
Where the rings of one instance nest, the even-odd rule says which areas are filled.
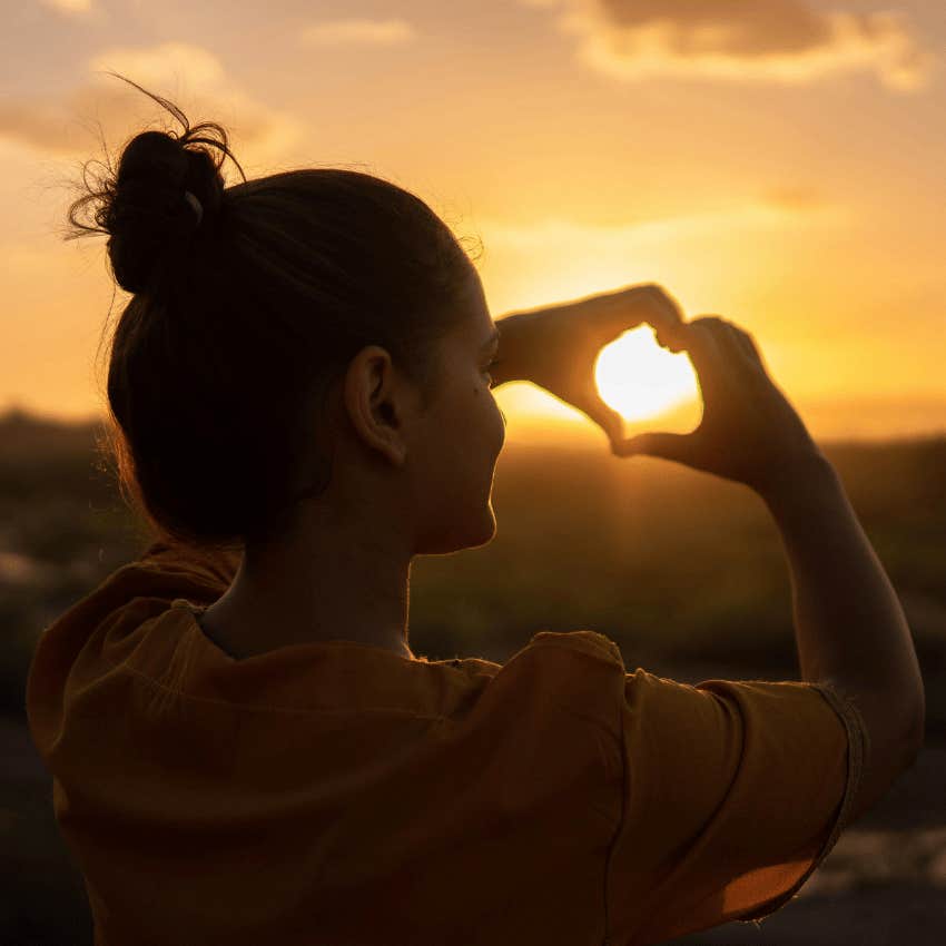
[[[391,355],[380,345],[366,345],[352,358],[345,374],[345,410],[358,436],[395,466],[407,456],[404,417],[407,388]]]

